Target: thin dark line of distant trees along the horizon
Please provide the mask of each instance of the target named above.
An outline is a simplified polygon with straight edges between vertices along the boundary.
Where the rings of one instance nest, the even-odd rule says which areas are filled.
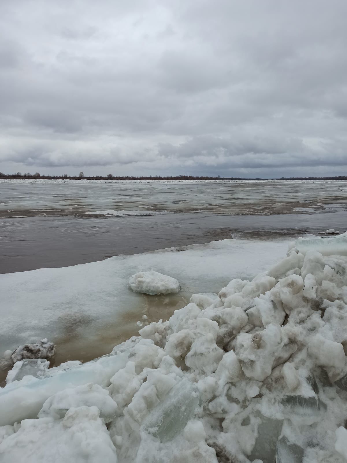
[[[347,175],[338,175],[335,177],[281,177],[280,179],[266,179],[266,178],[241,178],[241,177],[209,177],[209,176],[196,176],[196,175],[142,175],[138,176],[115,176],[113,174],[85,176],[81,171],[78,175],[45,175],[35,172],[16,172],[14,174],[4,174],[0,172],[0,179],[48,179],[48,180],[347,180]]]

